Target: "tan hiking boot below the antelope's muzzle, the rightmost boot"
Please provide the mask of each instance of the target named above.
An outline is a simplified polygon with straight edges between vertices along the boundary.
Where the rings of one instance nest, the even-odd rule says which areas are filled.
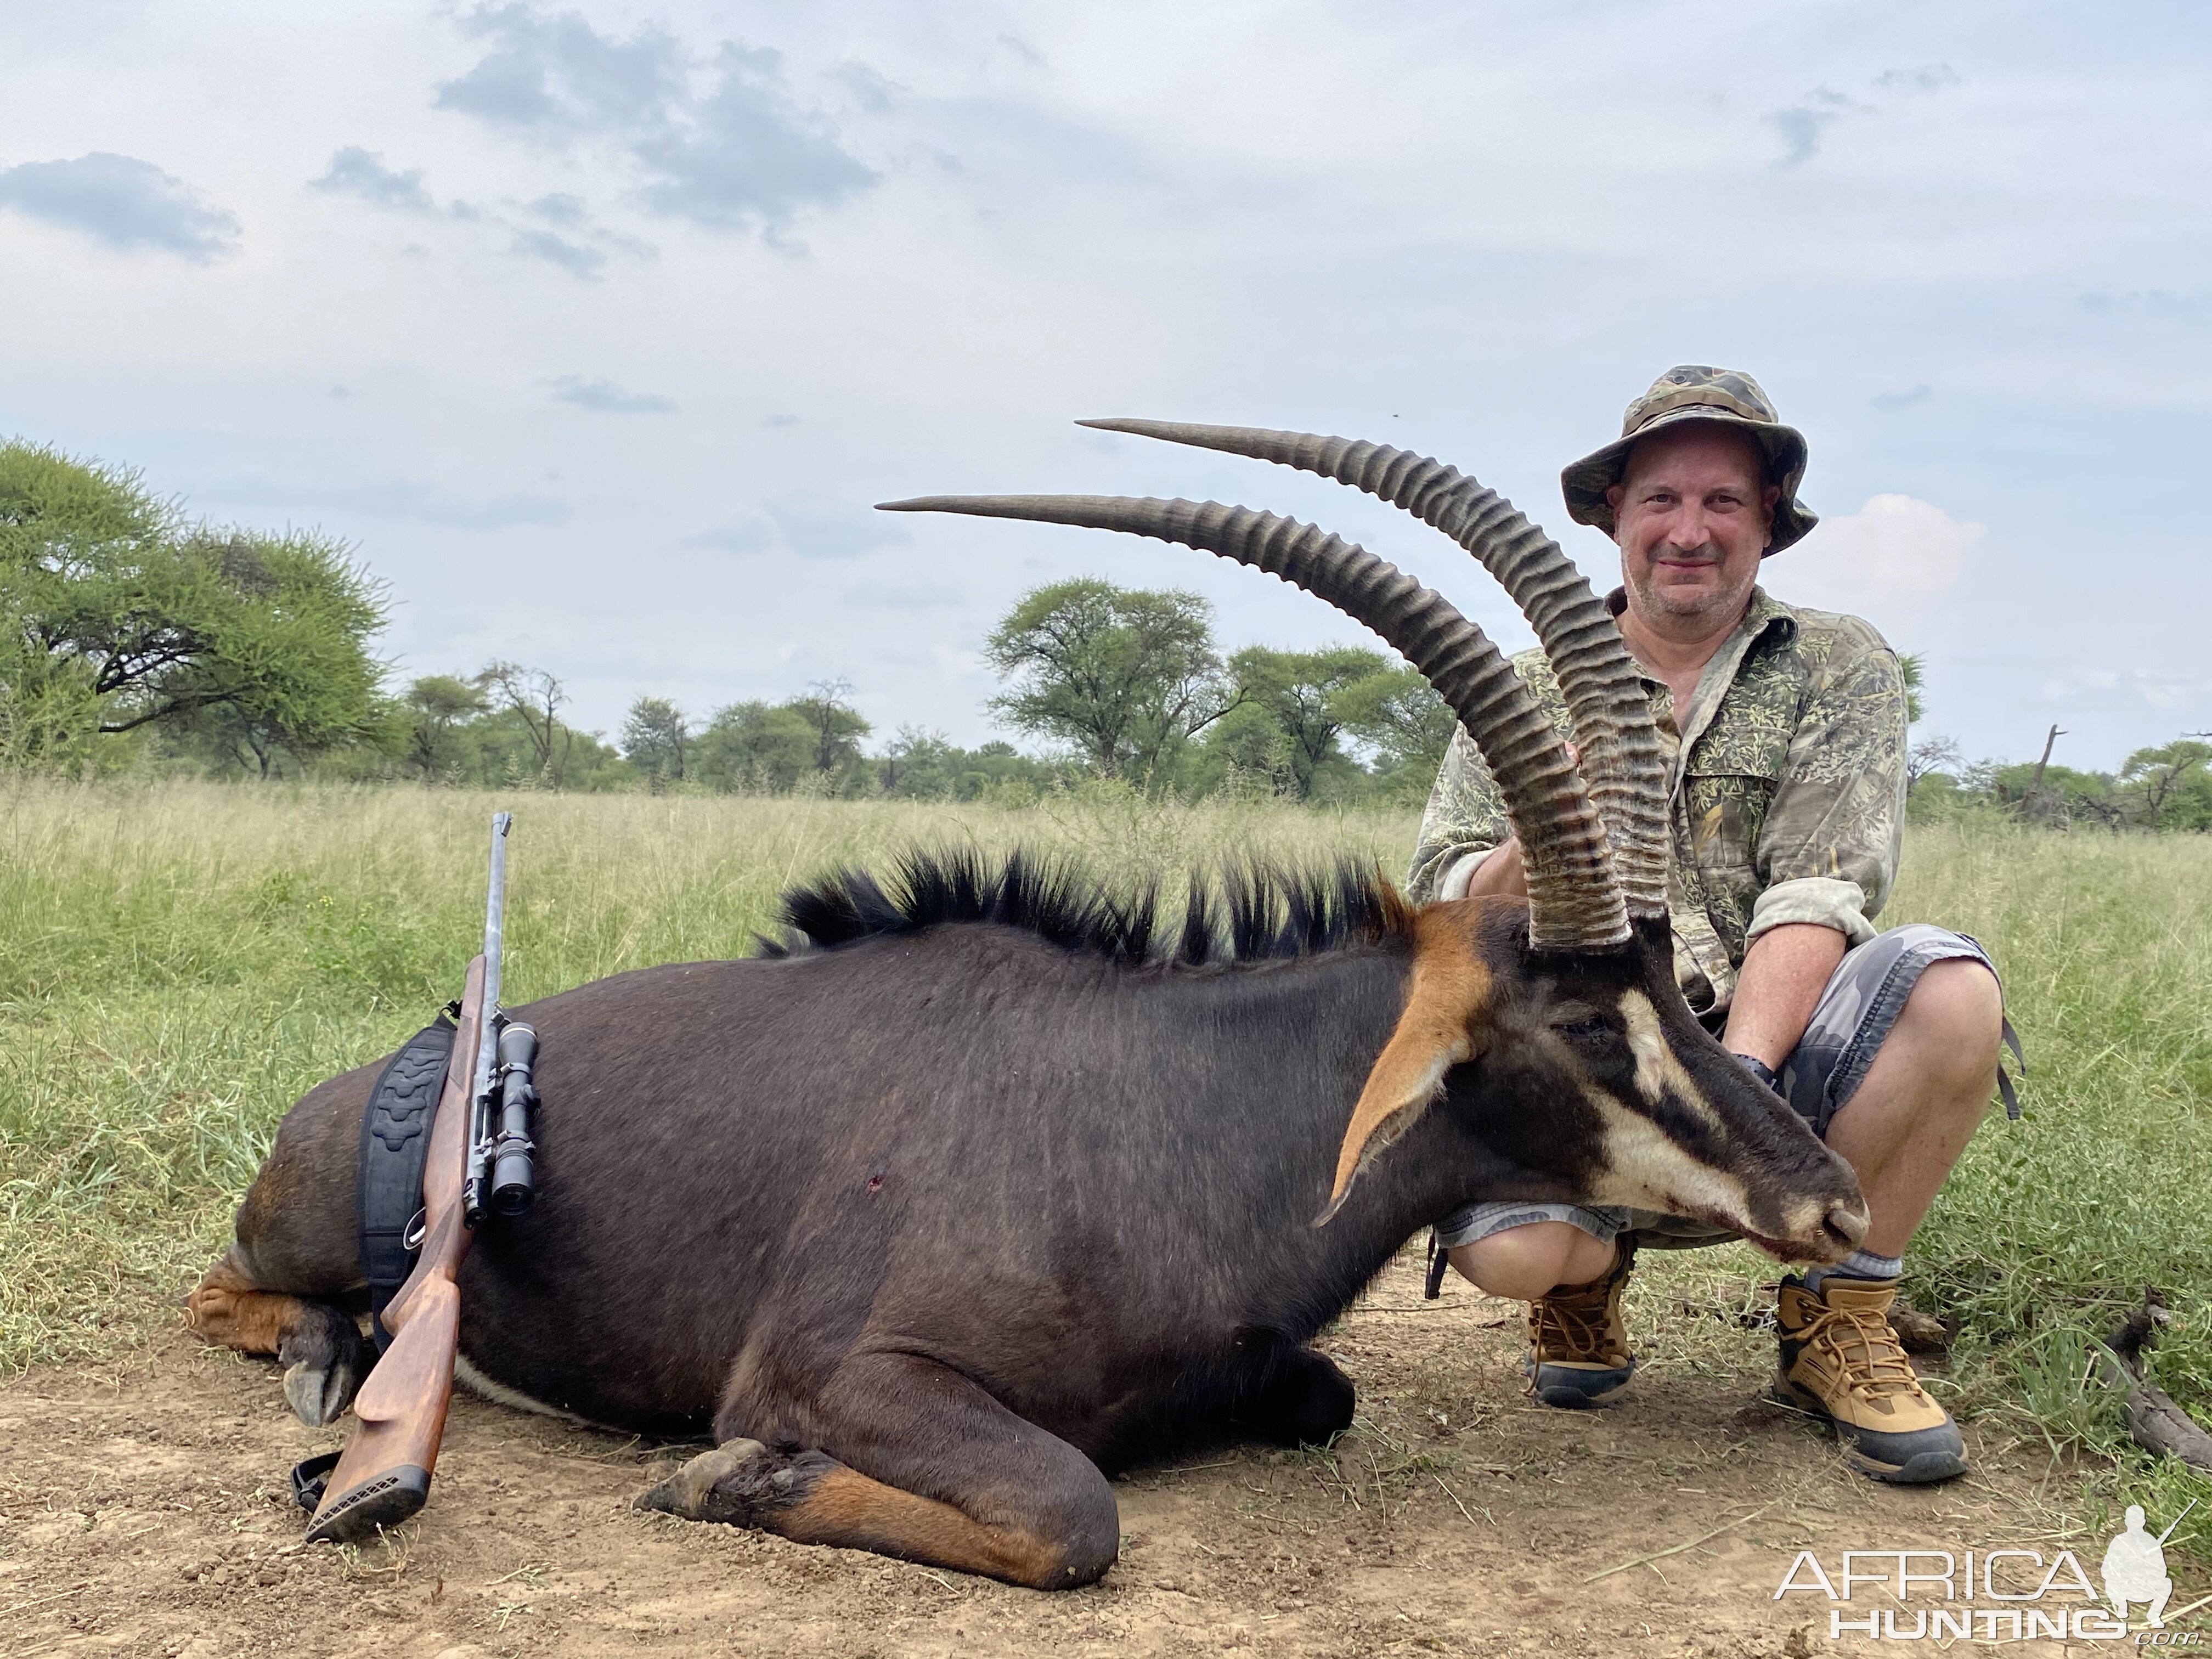
[[[1889,1329],[1896,1298],[1896,1279],[1829,1274],[1816,1292],[1785,1279],[1774,1310],[1781,1391],[1836,1425],[1860,1473],[1896,1484],[1949,1480],[1966,1473],[1966,1442]]]

